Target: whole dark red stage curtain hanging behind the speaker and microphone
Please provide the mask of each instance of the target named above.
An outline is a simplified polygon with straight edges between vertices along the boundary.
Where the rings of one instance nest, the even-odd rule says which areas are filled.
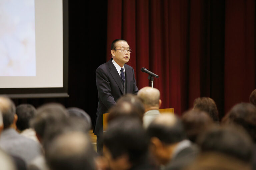
[[[255,88],[254,24],[253,0],[108,0],[106,58],[125,39],[138,88],[150,86],[142,67],[159,75],[161,108],[180,115],[208,96],[223,115]]]

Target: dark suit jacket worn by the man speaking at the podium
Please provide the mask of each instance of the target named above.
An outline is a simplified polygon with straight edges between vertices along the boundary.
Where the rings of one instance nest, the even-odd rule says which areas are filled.
[[[138,88],[134,76],[134,70],[131,66],[124,64],[126,93],[137,94]],[[99,103],[94,123],[94,134],[101,135],[103,132],[103,114],[108,112],[111,106],[124,95],[123,82],[118,74],[112,58],[100,65],[96,70],[96,84],[98,89]]]

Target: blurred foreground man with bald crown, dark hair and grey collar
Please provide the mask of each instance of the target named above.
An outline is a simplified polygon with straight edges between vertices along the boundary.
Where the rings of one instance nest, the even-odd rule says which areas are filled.
[[[182,169],[191,163],[198,148],[186,139],[181,120],[173,114],[161,114],[147,128],[150,151],[167,170]]]

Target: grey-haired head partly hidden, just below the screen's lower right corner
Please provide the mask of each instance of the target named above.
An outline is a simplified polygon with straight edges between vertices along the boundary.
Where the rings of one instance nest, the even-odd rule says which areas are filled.
[[[70,117],[76,117],[84,120],[88,124],[88,129],[92,127],[92,121],[90,116],[82,109],[72,107],[67,108]]]

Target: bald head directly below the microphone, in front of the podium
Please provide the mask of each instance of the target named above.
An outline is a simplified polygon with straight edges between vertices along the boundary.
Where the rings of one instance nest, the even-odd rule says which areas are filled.
[[[142,99],[144,105],[159,107],[160,91],[158,89],[143,87],[139,90],[138,96]]]

